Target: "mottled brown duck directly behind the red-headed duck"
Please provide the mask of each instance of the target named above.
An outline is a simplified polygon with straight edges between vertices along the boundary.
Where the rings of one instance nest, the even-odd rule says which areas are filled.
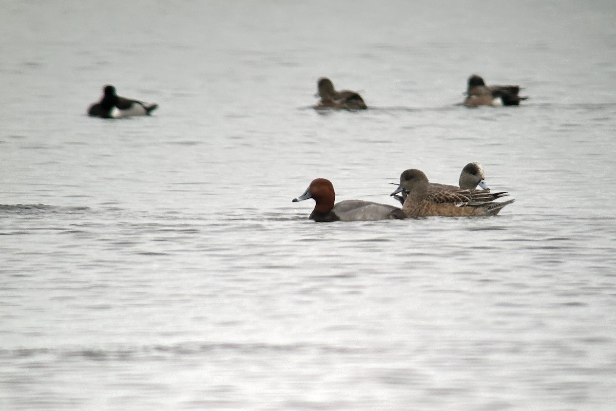
[[[407,169],[400,174],[400,185],[391,193],[407,191],[402,211],[407,217],[464,217],[495,216],[514,198],[501,203],[492,201],[493,194],[487,190],[435,190],[429,192],[429,181],[423,171]]]

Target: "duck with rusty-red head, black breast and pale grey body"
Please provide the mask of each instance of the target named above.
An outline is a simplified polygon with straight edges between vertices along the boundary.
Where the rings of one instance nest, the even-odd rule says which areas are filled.
[[[331,221],[379,221],[403,219],[403,211],[392,205],[374,203],[364,200],[344,200],[334,205],[336,193],[331,181],[325,178],[317,178],[299,197],[293,198],[293,202],[314,199],[315,206],[310,219],[317,222]]]

